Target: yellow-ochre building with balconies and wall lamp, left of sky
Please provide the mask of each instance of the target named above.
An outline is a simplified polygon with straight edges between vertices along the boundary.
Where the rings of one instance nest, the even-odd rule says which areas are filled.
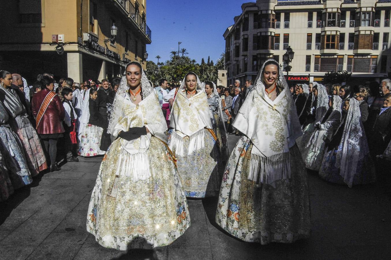
[[[29,82],[43,72],[75,82],[111,79],[130,61],[145,69],[146,0],[7,0],[2,10],[0,68]]]

